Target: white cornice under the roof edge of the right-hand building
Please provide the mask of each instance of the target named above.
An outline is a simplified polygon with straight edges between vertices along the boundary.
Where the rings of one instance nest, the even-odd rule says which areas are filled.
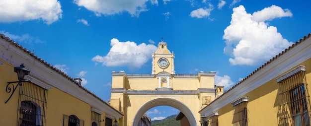
[[[282,54],[282,56],[265,65],[252,76],[239,83],[232,90],[228,91],[226,94],[216,99],[216,101],[213,101],[211,104],[200,110],[199,113],[203,115],[218,111],[220,108],[233,102],[232,99],[244,96],[268,81],[279,77],[284,72],[289,71],[290,69],[307,61],[311,58],[310,54],[311,38],[308,38],[304,42],[295,45],[295,47]]]

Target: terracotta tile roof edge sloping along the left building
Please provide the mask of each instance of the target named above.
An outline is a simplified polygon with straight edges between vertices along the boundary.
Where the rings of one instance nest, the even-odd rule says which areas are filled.
[[[32,53],[31,51],[27,50],[26,48],[22,47],[21,45],[19,45],[18,43],[14,42],[13,40],[11,40],[9,37],[3,35],[2,33],[0,33],[0,38],[4,39],[5,41],[9,42],[12,45],[15,45],[15,47],[19,48],[20,50],[23,50],[25,53],[27,53],[28,55],[30,55],[31,57],[33,57],[34,59],[38,60],[39,62],[43,63],[45,66],[50,67],[52,70],[58,72],[59,74],[63,75],[65,78],[67,78],[68,80],[72,81],[73,83],[77,84],[81,89],[83,89],[85,92],[91,94],[93,97],[95,97],[96,99],[100,100],[101,102],[103,102],[104,104],[108,105],[109,107],[111,107],[112,109],[114,109],[115,111],[117,111],[118,113],[120,113],[121,115],[123,115],[121,112],[119,112],[118,110],[116,110],[115,108],[113,108],[112,106],[110,106],[107,102],[105,102],[104,100],[102,100],[101,98],[99,98],[98,96],[96,96],[94,93],[90,92],[89,90],[87,90],[86,88],[84,88],[83,86],[81,86],[77,81],[74,80],[74,78],[72,78],[71,76],[67,75],[66,73],[64,73],[62,70],[56,68],[55,66],[51,65],[50,63],[45,62],[44,60],[42,60],[41,58],[39,58],[38,56],[36,56],[34,53]]]

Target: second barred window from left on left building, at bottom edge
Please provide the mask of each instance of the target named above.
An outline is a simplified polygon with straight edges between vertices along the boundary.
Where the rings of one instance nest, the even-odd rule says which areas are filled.
[[[79,120],[76,115],[64,115],[63,126],[84,126],[84,121]]]

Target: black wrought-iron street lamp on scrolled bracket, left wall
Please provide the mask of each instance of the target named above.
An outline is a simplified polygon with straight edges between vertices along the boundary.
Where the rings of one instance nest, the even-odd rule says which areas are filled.
[[[17,73],[18,81],[7,82],[5,91],[7,93],[10,93],[12,91],[12,89],[11,89],[11,87],[9,87],[9,85],[11,85],[13,87],[13,91],[12,91],[10,97],[5,101],[5,103],[7,103],[7,101],[10,100],[10,98],[14,94],[18,85],[21,86],[22,82],[29,82],[30,81],[30,80],[24,80],[24,76],[28,75],[30,73],[30,69],[26,69],[23,63],[21,63],[20,66],[14,67],[14,72]],[[14,86],[13,83],[17,83],[17,85]]]

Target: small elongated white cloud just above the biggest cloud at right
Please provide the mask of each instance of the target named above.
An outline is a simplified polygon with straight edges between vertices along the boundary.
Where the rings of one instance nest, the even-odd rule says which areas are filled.
[[[274,18],[281,17],[292,17],[293,13],[289,9],[282,9],[279,6],[272,5],[270,7],[266,7],[263,10],[257,11],[253,13],[252,19],[257,22],[262,22],[266,20],[273,20]]]

